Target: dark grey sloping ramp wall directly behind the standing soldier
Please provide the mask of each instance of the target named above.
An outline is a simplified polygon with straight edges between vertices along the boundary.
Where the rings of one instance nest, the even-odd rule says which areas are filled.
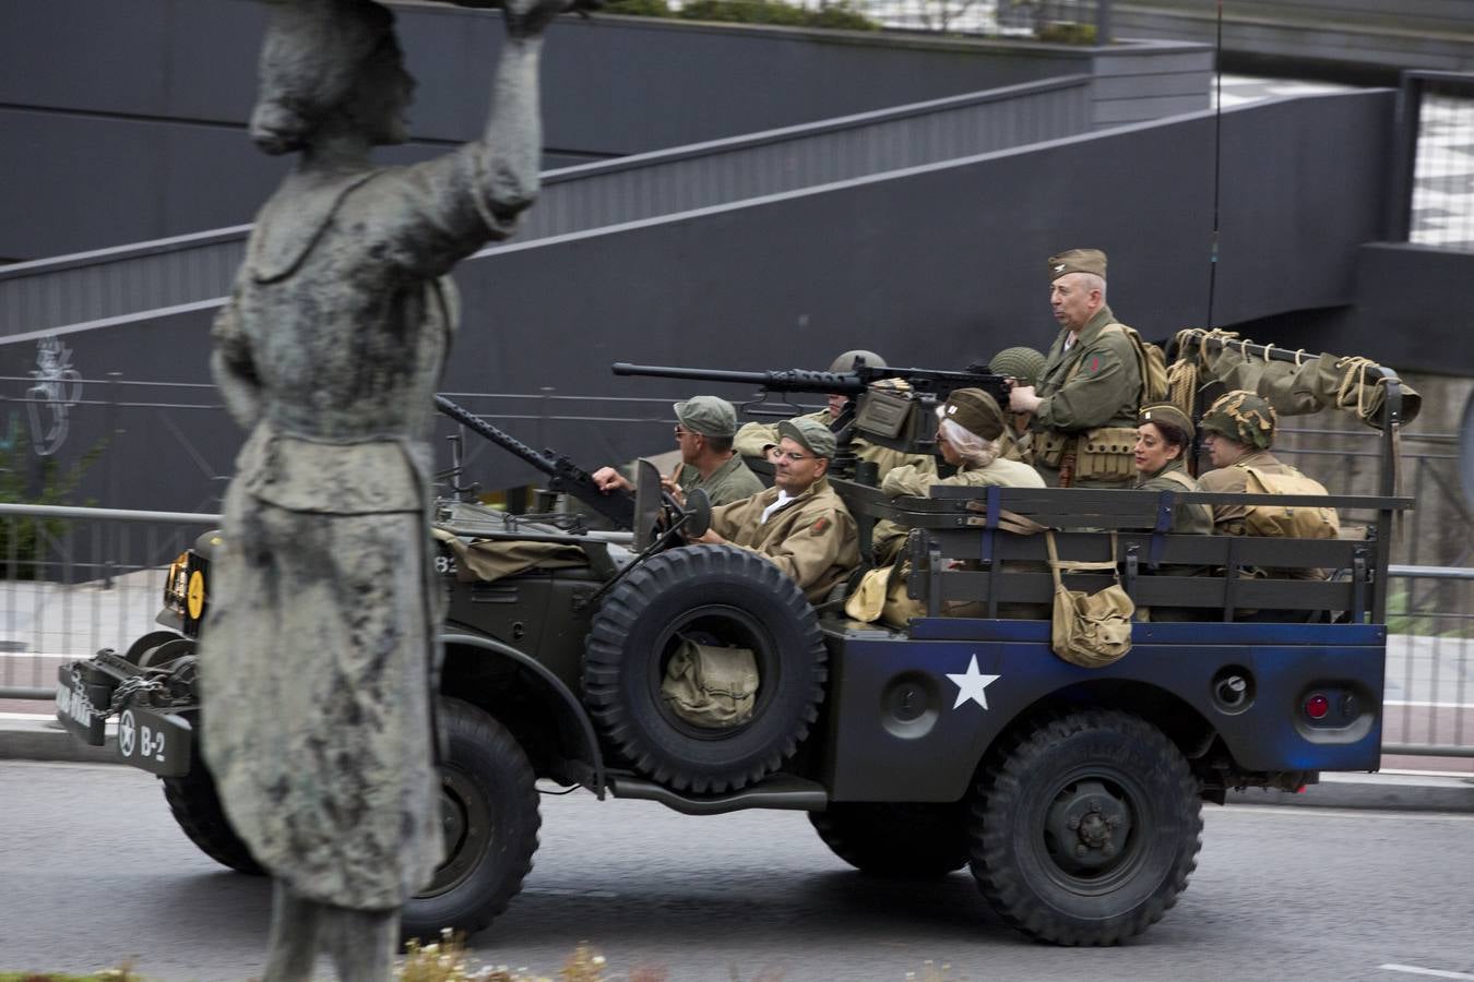
[[[1356,299],[1361,246],[1381,230],[1391,116],[1393,93],[1375,91],[1223,113],[1216,324]],[[1106,249],[1117,315],[1164,339],[1207,318],[1213,131],[1203,113],[492,250],[457,271],[466,312],[444,389],[514,393],[472,408],[590,465],[625,459],[663,449],[669,399],[702,386],[615,378],[613,361],[822,367],[871,347],[892,364],[958,367],[1042,347],[1054,336],[1044,259],[1069,246]],[[209,317],[62,340],[88,377],[200,383]],[[1356,342],[1375,358],[1387,339]],[[0,372],[18,378],[3,395],[29,384],[37,343],[0,345]],[[77,408],[78,420],[102,412]],[[180,411],[124,411],[115,452],[128,480],[108,501],[184,508],[218,492],[239,434],[218,412],[190,412],[212,423],[192,423],[184,451]],[[489,487],[528,477],[497,451],[476,468]]]

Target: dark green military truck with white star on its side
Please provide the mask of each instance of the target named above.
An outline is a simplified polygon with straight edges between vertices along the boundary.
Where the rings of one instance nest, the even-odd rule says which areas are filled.
[[[896,627],[849,620],[842,596],[815,610],[752,552],[682,545],[705,509],[662,499],[653,467],[631,499],[584,486],[628,533],[567,514],[439,502],[448,858],[405,907],[405,933],[475,932],[507,907],[537,848],[538,782],[551,782],[691,816],[802,810],[864,875],[970,867],[989,904],[1032,938],[1104,945],[1139,935],[1188,883],[1204,801],[1378,767],[1386,573],[1393,518],[1411,506],[1394,486],[1391,372],[1384,392],[1377,496],[935,487],[887,499],[836,478],[862,526],[912,529],[907,589],[926,615]],[[902,400],[926,418],[936,398],[923,387]],[[890,423],[864,430],[868,439],[926,430],[893,425],[896,392],[884,400]],[[865,395],[856,402],[865,420]],[[464,411],[457,418],[500,433]],[[556,487],[587,480],[566,459],[498,442],[539,458]],[[1225,501],[1331,505],[1366,526],[1340,540],[1166,531],[1173,508]],[[1057,530],[1061,558],[1116,565],[1070,576],[1070,587],[1119,577],[1139,607],[1212,610],[1213,620],[1136,623],[1129,654],[1100,668],[1061,660],[1048,620],[996,617],[1001,605],[1048,605],[1054,593],[1044,536],[1014,531],[1019,517]],[[256,873],[198,745],[193,651],[209,630],[218,543],[218,533],[202,536],[171,567],[164,630],[60,670],[57,714],[96,745],[115,718],[118,755],[162,779],[186,835]],[[483,558],[528,543],[557,562],[507,571],[498,559],[483,574]],[[1185,565],[1219,573],[1167,574]],[[1337,574],[1244,579],[1247,567]],[[988,615],[942,615],[957,599],[980,601]],[[1246,620],[1271,610],[1299,623]],[[693,724],[662,696],[671,660],[693,640],[753,652],[759,685],[744,721]]]

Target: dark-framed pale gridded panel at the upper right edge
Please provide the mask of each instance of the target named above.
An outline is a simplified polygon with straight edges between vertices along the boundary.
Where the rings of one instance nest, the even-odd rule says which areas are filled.
[[[1474,252],[1474,74],[1403,72],[1389,237]]]

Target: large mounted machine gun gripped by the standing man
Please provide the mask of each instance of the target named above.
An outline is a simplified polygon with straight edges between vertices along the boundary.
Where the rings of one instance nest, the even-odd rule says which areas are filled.
[[[830,424],[830,428],[839,436],[842,448],[853,431],[871,443],[907,453],[935,452],[936,415],[933,409],[957,389],[982,389],[996,399],[999,406],[1008,405],[1007,378],[976,365],[970,365],[967,371],[858,365],[853,371],[833,372],[806,368],[725,371],[615,362],[613,372],[616,375],[747,384],[758,386],[764,392],[842,393],[849,396],[849,405]],[[893,378],[902,380],[905,386],[877,384]]]

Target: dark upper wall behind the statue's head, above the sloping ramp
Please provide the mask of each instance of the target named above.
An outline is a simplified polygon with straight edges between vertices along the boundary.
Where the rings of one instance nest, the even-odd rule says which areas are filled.
[[[286,162],[242,125],[255,88],[258,0],[0,3],[0,261],[239,225]],[[501,16],[399,7],[420,81],[422,159],[482,127]],[[917,35],[565,18],[544,63],[545,165],[1095,74],[1097,122],[1207,106],[1212,54],[1169,43],[1092,49]],[[1141,96],[1135,99],[1134,91]]]

